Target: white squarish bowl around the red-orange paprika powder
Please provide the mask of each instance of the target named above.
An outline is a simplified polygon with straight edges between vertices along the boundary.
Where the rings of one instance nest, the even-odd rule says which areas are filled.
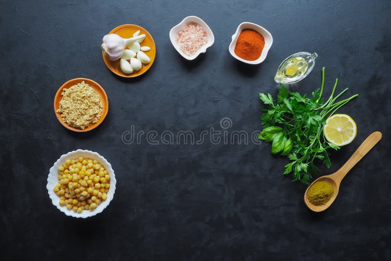
[[[263,36],[263,38],[265,39],[265,46],[263,47],[260,58],[258,58],[257,60],[254,60],[254,61],[244,60],[235,54],[236,42],[238,41],[238,37],[239,37],[240,32],[244,29],[252,29],[252,30],[260,33]],[[235,34],[232,36],[232,41],[229,44],[228,50],[229,50],[229,53],[234,58],[239,60],[240,62],[250,64],[250,65],[258,65],[258,64],[261,64],[266,59],[267,52],[269,51],[272,44],[273,44],[273,37],[269,33],[268,30],[266,30],[265,28],[263,28],[262,26],[260,26],[258,24],[252,23],[252,22],[242,22],[239,24],[238,28],[236,29]]]

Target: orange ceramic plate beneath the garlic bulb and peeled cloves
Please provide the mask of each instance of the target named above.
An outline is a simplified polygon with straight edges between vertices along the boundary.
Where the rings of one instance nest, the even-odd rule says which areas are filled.
[[[133,34],[138,30],[140,30],[140,34],[145,34],[145,39],[142,43],[140,43],[140,45],[148,46],[151,48],[151,50],[145,52],[145,54],[148,55],[148,57],[151,59],[151,62],[149,64],[143,64],[141,69],[139,69],[138,71],[133,71],[132,73],[127,74],[124,73],[120,68],[119,65],[120,59],[118,59],[117,61],[110,61],[109,58],[102,51],[103,61],[105,61],[105,64],[109,68],[109,70],[115,73],[116,75],[119,75],[121,77],[126,77],[126,78],[133,78],[133,77],[140,76],[141,74],[148,71],[149,68],[151,68],[153,61],[155,60],[155,56],[156,56],[155,42],[153,41],[151,34],[143,27],[135,24],[123,24],[112,29],[109,32],[109,34],[117,34],[122,38],[131,38],[133,37]],[[128,49],[128,47],[126,47],[126,49]]]

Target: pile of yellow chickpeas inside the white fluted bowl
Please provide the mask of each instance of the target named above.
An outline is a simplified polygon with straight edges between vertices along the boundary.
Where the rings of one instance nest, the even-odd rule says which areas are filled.
[[[59,168],[59,183],[53,191],[60,196],[60,206],[82,213],[94,210],[107,199],[110,175],[97,160],[79,157],[67,159]]]

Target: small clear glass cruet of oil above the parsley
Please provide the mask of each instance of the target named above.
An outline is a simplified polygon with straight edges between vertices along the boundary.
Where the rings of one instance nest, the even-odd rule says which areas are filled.
[[[299,52],[287,57],[277,70],[274,81],[293,84],[303,80],[314,68],[317,53]]]

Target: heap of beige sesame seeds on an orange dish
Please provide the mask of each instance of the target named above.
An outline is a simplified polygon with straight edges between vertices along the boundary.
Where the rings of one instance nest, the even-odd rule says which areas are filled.
[[[94,89],[84,81],[61,93],[63,98],[57,112],[62,120],[71,127],[81,130],[97,123],[102,114],[102,102]]]

